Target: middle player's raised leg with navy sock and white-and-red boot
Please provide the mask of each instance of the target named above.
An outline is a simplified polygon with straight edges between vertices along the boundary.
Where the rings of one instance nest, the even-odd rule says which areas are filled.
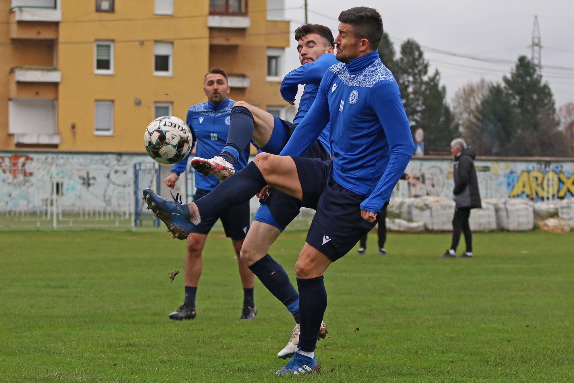
[[[220,155],[212,158],[193,157],[191,160],[197,172],[204,176],[214,175],[220,181],[235,173],[234,165],[239,153],[249,145],[250,140],[255,141],[259,148],[267,145],[275,123],[272,114],[245,101],[238,101],[233,106],[235,109],[231,112],[227,144]]]

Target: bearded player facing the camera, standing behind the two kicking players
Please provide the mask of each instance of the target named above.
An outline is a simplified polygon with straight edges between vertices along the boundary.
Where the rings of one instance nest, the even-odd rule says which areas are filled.
[[[227,130],[234,100],[227,98],[230,87],[227,83],[227,73],[221,68],[212,68],[204,80],[203,92],[207,96],[207,101],[192,105],[187,113],[186,123],[191,129],[193,144],[197,141],[196,153],[200,156],[212,156],[223,148],[227,140]],[[238,161],[235,165],[237,170],[241,170],[249,159],[249,142],[243,146]],[[190,152],[191,153],[191,152]],[[175,164],[172,173],[166,177],[165,184],[172,188],[176,184],[181,173],[185,172],[188,157]],[[195,174],[196,192],[193,200],[197,201],[207,195],[219,180],[214,176],[203,176]],[[174,312],[169,314],[169,319],[182,320],[193,319],[196,316],[195,297],[197,284],[201,276],[201,252],[205,246],[207,234],[221,219],[223,229],[227,237],[231,238],[233,248],[238,260],[239,276],[243,285],[243,309],[239,319],[250,320],[255,318],[257,308],[253,298],[253,273],[239,258],[239,251],[243,245],[243,240],[249,229],[249,201],[230,206],[223,211],[202,218],[200,225],[191,230],[187,240],[187,252],[185,253],[185,299],[184,303]]]

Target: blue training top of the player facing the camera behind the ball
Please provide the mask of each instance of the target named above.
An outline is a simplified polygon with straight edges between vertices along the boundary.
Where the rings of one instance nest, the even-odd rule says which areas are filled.
[[[229,131],[229,124],[231,122],[230,114],[231,108],[235,103],[234,100],[226,98],[220,104],[214,104],[209,100],[192,105],[187,112],[187,119],[185,123],[191,129],[193,142],[197,141],[196,156],[203,158],[211,158],[219,156],[223,146],[227,142],[227,132]],[[235,164],[235,171],[239,172],[247,166],[249,158],[250,147],[241,152],[237,164]],[[191,155],[191,150],[187,157],[173,165],[172,173],[180,175],[185,172],[187,168],[187,161]],[[219,180],[215,176],[204,176],[200,173],[195,173],[195,187],[211,191],[219,184]]]

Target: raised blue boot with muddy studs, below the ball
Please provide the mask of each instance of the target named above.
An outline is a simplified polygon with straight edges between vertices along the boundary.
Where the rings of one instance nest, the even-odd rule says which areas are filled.
[[[172,195],[173,197],[173,195]],[[186,239],[195,225],[189,222],[189,208],[186,204],[178,202],[177,196],[174,201],[161,198],[152,189],[144,189],[142,199],[148,204],[148,209],[152,209],[153,215],[157,216],[168,227],[168,231],[173,234],[173,238]]]

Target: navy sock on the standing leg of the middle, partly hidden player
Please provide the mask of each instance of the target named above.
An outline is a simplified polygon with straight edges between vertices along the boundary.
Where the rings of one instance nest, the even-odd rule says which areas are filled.
[[[249,269],[259,278],[263,286],[293,314],[295,323],[299,323],[299,295],[281,265],[266,254],[265,257],[249,266]]]

